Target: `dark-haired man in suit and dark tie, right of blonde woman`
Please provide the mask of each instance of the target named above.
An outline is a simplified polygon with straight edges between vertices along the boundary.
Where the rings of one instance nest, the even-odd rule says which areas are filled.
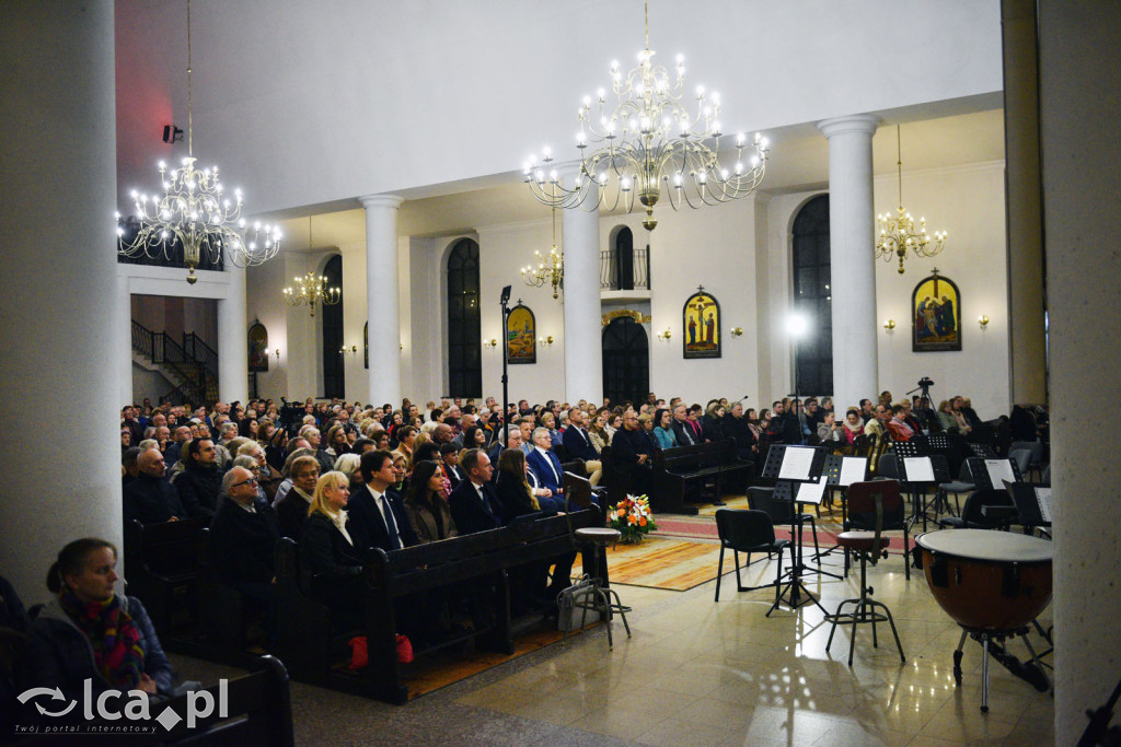
[[[359,469],[365,487],[354,491],[346,505],[346,531],[354,540],[354,549],[365,554],[370,548],[390,552],[417,544],[401,496],[390,488],[397,483],[393,456],[386,449],[367,451]]]

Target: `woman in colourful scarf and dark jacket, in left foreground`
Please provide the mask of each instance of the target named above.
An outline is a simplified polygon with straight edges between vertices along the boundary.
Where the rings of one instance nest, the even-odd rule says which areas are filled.
[[[117,548],[105,540],[71,542],[47,573],[56,598],[39,613],[22,671],[34,684],[81,700],[85,680],[106,690],[172,694],[172,664],[136,597],[115,594]],[[122,701],[123,702],[123,701]]]

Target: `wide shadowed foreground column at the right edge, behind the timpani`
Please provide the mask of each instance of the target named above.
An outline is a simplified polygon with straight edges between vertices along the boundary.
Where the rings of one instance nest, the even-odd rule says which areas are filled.
[[[1113,439],[1090,424],[1095,405],[1108,411],[1114,399],[1121,361],[1112,217],[1121,194],[1121,100],[1102,95],[1102,86],[1115,86],[1121,64],[1121,15],[1112,3],[1044,0],[1036,8],[1050,321],[1055,736],[1056,744],[1072,745],[1086,728],[1086,709],[1103,706],[1121,676],[1121,533],[1113,499],[1121,460]]]

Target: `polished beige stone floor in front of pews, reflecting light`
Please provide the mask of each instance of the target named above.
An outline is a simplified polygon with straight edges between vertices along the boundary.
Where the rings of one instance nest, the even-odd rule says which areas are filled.
[[[826,568],[839,570],[839,559]],[[768,562],[744,581],[773,577]],[[858,576],[812,575],[809,589],[833,609],[855,596]],[[963,687],[952,654],[960,628],[934,601],[921,573],[908,581],[892,555],[869,571],[877,599],[892,610],[907,656],[900,664],[886,627],[880,646],[858,633],[847,665],[849,632],[825,651],[828,625],[817,607],[765,617],[769,589],[736,592],[724,577],[691,591],[617,587],[633,637],[614,626],[614,651],[602,627],[481,675],[392,707],[299,683],[293,711],[299,744],[455,745],[1043,745],[1055,741],[1054,703],[993,662],[990,711],[979,710],[981,648],[965,647]],[[1050,611],[1041,623],[1049,625]],[[887,637],[884,637],[884,635]],[[1041,641],[1034,641],[1037,650]],[[1019,641],[1013,654],[1026,657]],[[232,672],[176,657],[188,678]],[[1077,738],[1064,738],[1073,741]]]

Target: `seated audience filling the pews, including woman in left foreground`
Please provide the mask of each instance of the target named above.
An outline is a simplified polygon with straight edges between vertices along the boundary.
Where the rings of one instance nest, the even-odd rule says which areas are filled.
[[[1046,440],[1045,412],[1016,407],[1008,423],[1016,438]],[[969,439],[983,426],[967,398],[934,409],[925,396],[895,401],[890,392],[843,414],[827,396],[784,398],[758,411],[742,401],[702,407],[654,394],[620,404],[521,400],[504,413],[493,398],[424,407],[405,400],[400,408],[308,399],[302,409],[271,400],[211,409],[145,401],[121,412],[122,519],[206,523],[219,579],[267,620],[276,615],[276,542],[290,536],[307,594],[328,605],[341,625],[358,626],[362,562],[371,548],[392,552],[530,513],[562,514],[564,470],[583,470],[599,484],[608,446],[615,468],[646,491],[652,455],[664,449],[732,439],[738,458],[758,461],[769,443],[845,451],[860,439],[938,432]],[[573,560],[565,553],[519,571],[521,607],[555,614]],[[173,691],[142,604],[115,589],[115,548],[103,540],[67,544],[48,572],[54,601],[34,622],[0,579],[0,627],[28,636],[22,669],[34,673],[34,684],[70,692],[89,676],[95,689]],[[471,614],[469,600],[437,595],[402,625],[414,626],[414,635],[439,635],[470,626]]]

